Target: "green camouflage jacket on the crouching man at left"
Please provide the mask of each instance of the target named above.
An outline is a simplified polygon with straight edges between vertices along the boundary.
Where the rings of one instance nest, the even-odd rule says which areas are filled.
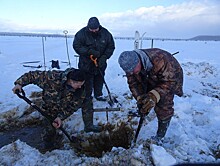
[[[66,71],[30,71],[15,81],[22,87],[34,84],[40,87],[42,92],[44,111],[56,118],[65,119],[79,108],[91,109],[92,103],[85,103],[85,88],[74,90],[66,83],[67,74],[73,68]]]

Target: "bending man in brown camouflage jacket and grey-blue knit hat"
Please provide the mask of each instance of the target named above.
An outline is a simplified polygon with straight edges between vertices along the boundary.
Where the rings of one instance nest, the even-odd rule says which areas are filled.
[[[154,139],[160,141],[174,114],[174,95],[183,95],[180,64],[169,52],[158,48],[122,52],[118,62],[126,72],[139,112],[148,114],[154,108],[158,118]]]

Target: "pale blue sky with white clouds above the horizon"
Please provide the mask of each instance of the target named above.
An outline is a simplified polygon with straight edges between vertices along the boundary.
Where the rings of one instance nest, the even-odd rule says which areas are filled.
[[[1,32],[75,34],[92,16],[113,36],[220,35],[219,0],[0,0]]]

